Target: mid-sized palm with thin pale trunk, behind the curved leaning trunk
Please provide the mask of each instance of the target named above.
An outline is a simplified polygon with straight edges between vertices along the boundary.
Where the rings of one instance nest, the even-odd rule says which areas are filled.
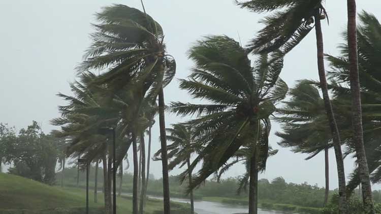
[[[278,110],[280,117],[276,120],[282,123],[282,132],[276,132],[281,137],[281,147],[292,148],[293,152],[306,153],[306,160],[315,157],[320,152],[325,153],[326,192],[324,203],[329,195],[329,159],[328,150],[332,147],[332,135],[327,127],[328,118],[324,111],[324,100],[316,87],[310,81],[300,81],[290,90],[291,99],[284,101],[285,106]]]

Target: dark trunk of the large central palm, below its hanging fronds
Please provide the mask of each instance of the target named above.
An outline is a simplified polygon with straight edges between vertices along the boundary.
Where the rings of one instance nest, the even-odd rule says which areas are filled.
[[[258,214],[258,166],[256,156],[250,158],[249,214]]]

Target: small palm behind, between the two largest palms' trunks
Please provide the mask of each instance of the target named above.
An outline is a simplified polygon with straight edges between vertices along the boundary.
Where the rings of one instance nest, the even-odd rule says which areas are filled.
[[[193,153],[199,151],[200,148],[195,142],[195,136],[192,133],[190,127],[185,126],[184,124],[172,124],[172,128],[167,128],[167,132],[170,135],[167,135],[167,139],[172,141],[171,145],[168,145],[168,159],[169,170],[172,170],[175,167],[187,166],[187,169],[190,169],[190,157]],[[162,151],[159,150],[154,154],[154,160],[161,160]],[[187,170],[188,172],[188,184],[192,183],[192,170]],[[190,199],[190,210],[193,214],[195,212],[193,190],[189,192]]]

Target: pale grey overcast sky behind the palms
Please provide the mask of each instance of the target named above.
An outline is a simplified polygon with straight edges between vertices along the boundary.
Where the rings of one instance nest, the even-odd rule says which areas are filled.
[[[358,10],[366,10],[381,18],[379,0],[362,0]],[[56,127],[49,120],[58,117],[57,105],[65,104],[55,94],[70,94],[69,82],[75,78],[74,67],[82,60],[89,46],[90,23],[93,14],[111,4],[124,4],[141,9],[140,0],[12,0],[0,1],[0,122],[26,127],[32,120],[43,124],[49,132]],[[168,52],[177,61],[177,78],[189,74],[192,61],[186,51],[203,35],[226,34],[243,43],[254,37],[262,25],[258,21],[263,14],[239,9],[232,0],[145,0],[145,7],[163,27]],[[326,9],[330,25],[324,22],[325,52],[337,55],[337,45],[342,42],[340,33],[346,27],[346,1],[328,0]],[[314,32],[286,58],[281,78],[294,86],[296,80],[318,79]],[[329,67],[327,67],[329,69]],[[185,91],[173,81],[165,89],[166,103],[189,101]],[[166,124],[183,121],[168,115]],[[304,161],[305,155],[294,154],[279,148],[279,138],[273,133],[279,130],[273,125],[270,144],[279,153],[268,160],[267,171],[261,178],[274,179],[283,176],[287,182],[318,184],[324,186],[324,157],[318,155]],[[158,124],[153,129],[153,151],[160,147]],[[337,171],[333,151],[330,151],[330,187],[337,188]],[[345,172],[354,168],[353,160],[345,160]],[[161,163],[154,162],[150,170],[161,177]],[[244,167],[231,169],[227,176],[242,174]],[[175,169],[171,174],[178,174]],[[375,185],[379,189],[378,185]]]

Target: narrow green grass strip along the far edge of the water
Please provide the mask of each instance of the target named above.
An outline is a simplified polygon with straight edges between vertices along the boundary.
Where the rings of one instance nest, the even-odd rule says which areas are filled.
[[[227,197],[203,197],[205,201],[232,204],[232,205],[242,205],[247,206],[247,198],[227,198]],[[292,204],[282,204],[282,203],[273,203],[270,201],[259,201],[259,208],[268,209],[268,210],[279,210],[285,212],[298,212],[301,214],[320,214],[323,212],[321,208],[314,207],[302,207]]]

